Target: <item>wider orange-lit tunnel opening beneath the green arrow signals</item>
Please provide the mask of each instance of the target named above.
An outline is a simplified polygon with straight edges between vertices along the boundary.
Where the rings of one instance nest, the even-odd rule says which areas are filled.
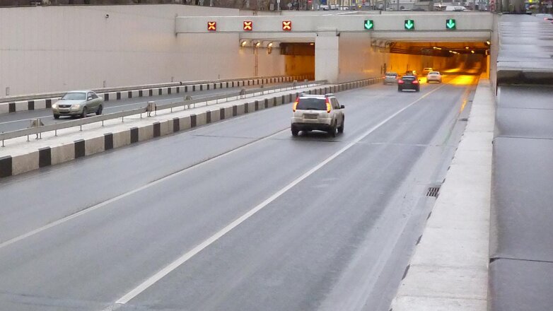
[[[450,74],[489,76],[489,42],[388,42],[385,71],[404,74],[432,68]]]

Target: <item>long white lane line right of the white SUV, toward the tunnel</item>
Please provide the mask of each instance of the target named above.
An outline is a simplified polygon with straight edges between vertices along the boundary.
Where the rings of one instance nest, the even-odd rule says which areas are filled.
[[[115,301],[115,303],[118,304],[118,305],[124,305],[124,304],[128,303],[129,300],[132,300],[132,298],[135,298],[140,293],[146,291],[147,288],[152,286],[157,281],[161,280],[161,278],[168,275],[171,271],[177,269],[177,267],[179,267],[180,265],[187,262],[190,258],[194,257],[195,254],[198,254],[199,252],[204,250],[206,247],[213,244],[216,240],[219,240],[220,237],[222,237],[223,235],[226,235],[226,233],[233,230],[233,228],[236,228],[238,225],[240,225],[240,223],[243,223],[244,221],[246,221],[248,218],[253,216],[255,213],[257,213],[258,211],[263,209],[265,206],[269,205],[269,203],[276,200],[279,196],[281,196],[282,194],[287,192],[292,187],[296,186],[296,184],[298,184],[299,182],[305,180],[305,178],[309,177],[310,175],[313,175],[314,172],[318,171],[320,168],[325,166],[327,163],[334,160],[334,158],[337,158],[338,155],[341,155],[342,153],[347,151],[349,148],[354,146],[356,143],[359,143],[359,141],[364,139],[366,136],[371,134],[373,131],[376,131],[376,129],[378,129],[379,127],[382,127],[383,124],[390,121],[390,119],[392,119],[393,117],[399,115],[404,110],[407,110],[407,108],[409,108],[412,105],[416,104],[417,102],[419,102],[423,98],[426,98],[426,96],[430,95],[431,93],[436,92],[436,90],[438,90],[440,88],[443,88],[443,86],[441,86],[439,88],[436,88],[434,90],[431,90],[429,93],[426,93],[425,95],[421,96],[419,99],[415,100],[414,102],[411,102],[409,105],[407,105],[407,106],[403,107],[402,109],[398,110],[393,115],[390,115],[390,117],[384,119],[382,122],[376,124],[371,129],[368,129],[368,131],[361,134],[361,136],[354,139],[354,141],[351,141],[350,143],[348,143],[346,146],[344,146],[344,148],[340,149],[339,151],[337,151],[333,155],[330,155],[330,157],[323,160],[321,163],[316,165],[314,168],[311,168],[310,170],[308,170],[308,172],[305,172],[303,175],[298,177],[296,180],[293,180],[293,182],[290,182],[284,188],[280,189],[278,192],[276,192],[272,196],[269,196],[268,199],[265,199],[265,201],[262,201],[260,204],[255,206],[253,209],[250,209],[250,211],[243,214],[243,216],[240,216],[240,218],[236,219],[232,223],[229,223],[228,225],[226,225],[226,227],[219,230],[219,232],[215,233],[214,235],[211,235],[211,237],[204,240],[204,242],[202,242],[199,245],[197,245],[196,247],[192,248],[192,250],[186,252],[181,257],[179,257],[177,260],[175,260],[174,262],[171,262],[168,266],[165,266],[165,268],[161,269],[161,271],[158,271],[158,273],[156,273],[153,276],[151,276],[150,278],[146,279],[146,281],[141,283],[136,288],[132,289],[132,291],[129,291],[129,293],[123,295],[121,298],[119,298],[117,301]]]

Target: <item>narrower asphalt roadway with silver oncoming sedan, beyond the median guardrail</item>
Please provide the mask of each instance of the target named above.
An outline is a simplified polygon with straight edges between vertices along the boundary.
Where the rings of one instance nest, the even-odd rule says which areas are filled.
[[[287,83],[267,83],[264,84],[265,87],[269,86],[286,86],[291,85],[290,82]],[[140,107],[146,107],[148,105],[148,102],[153,100],[158,104],[168,104],[171,102],[179,102],[184,100],[184,97],[187,95],[190,95],[192,98],[202,98],[202,97],[208,97],[208,96],[214,96],[214,95],[222,95],[225,93],[233,93],[238,92],[240,89],[246,88],[260,88],[260,85],[257,86],[240,86],[236,88],[216,88],[211,90],[196,90],[196,91],[190,91],[187,93],[175,93],[175,94],[168,94],[168,95],[159,95],[159,96],[143,96],[143,97],[136,97],[136,98],[125,98],[122,100],[110,100],[103,103],[103,113],[112,113],[112,112],[120,112],[124,110],[132,110]],[[53,103],[53,102],[52,102]],[[89,116],[92,116],[95,114],[91,114]],[[30,124],[31,119],[37,119],[41,118],[43,124],[54,124],[54,123],[62,123],[66,122],[72,119],[75,119],[76,117],[64,117],[62,116],[60,119],[54,119],[54,116],[52,115],[52,110],[50,108],[47,109],[40,109],[40,110],[26,110],[26,111],[20,111],[20,112],[12,112],[8,114],[2,114],[0,115],[0,132],[5,131],[17,131],[18,129],[27,129]]]

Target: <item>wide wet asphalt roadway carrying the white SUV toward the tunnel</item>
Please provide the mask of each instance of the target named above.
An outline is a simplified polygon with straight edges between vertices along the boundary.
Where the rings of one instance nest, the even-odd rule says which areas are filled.
[[[0,180],[0,310],[388,311],[477,76],[337,93]]]

